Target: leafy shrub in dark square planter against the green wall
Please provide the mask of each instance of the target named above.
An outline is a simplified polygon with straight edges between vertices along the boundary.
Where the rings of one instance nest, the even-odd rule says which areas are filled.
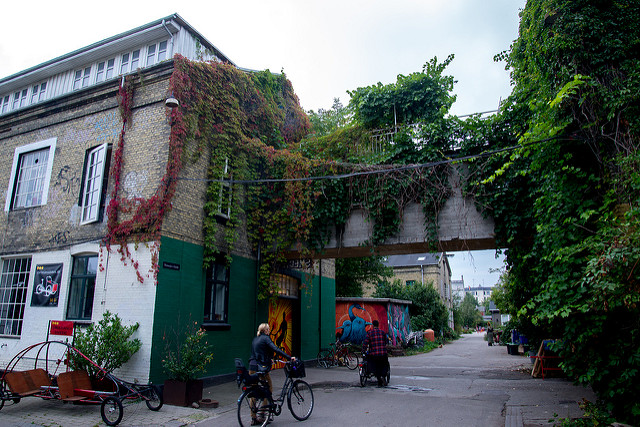
[[[196,375],[205,371],[213,353],[205,341],[205,331],[197,323],[192,329],[183,337],[167,342],[166,357],[162,361],[165,372],[169,374],[163,390],[167,405],[189,406],[202,400],[203,384]]]

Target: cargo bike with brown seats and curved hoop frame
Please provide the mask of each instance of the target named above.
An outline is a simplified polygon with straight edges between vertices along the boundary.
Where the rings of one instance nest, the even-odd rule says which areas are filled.
[[[72,370],[77,365],[73,360],[86,361],[94,379],[86,370]],[[122,421],[123,405],[144,401],[152,411],[163,405],[158,386],[121,380],[63,341],[31,345],[14,356],[2,371],[0,409],[6,403],[20,403],[25,397],[100,405],[102,420],[110,426]]]

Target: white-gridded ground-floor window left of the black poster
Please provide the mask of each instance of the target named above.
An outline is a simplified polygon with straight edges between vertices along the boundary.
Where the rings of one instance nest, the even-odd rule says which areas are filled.
[[[22,333],[31,258],[5,258],[0,273],[0,336]]]

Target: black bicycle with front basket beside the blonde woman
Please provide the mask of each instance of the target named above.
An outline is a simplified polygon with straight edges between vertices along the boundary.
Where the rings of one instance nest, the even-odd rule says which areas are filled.
[[[285,397],[293,418],[304,421],[313,411],[313,391],[304,380],[304,363],[301,360],[284,362],[285,381],[280,396],[274,400],[264,374],[249,374],[242,359],[235,359],[236,382],[242,386],[238,398],[238,422],[241,427],[250,425],[266,426],[282,412]]]

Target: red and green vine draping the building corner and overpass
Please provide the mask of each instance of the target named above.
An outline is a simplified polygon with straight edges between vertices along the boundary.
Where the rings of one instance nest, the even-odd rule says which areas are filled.
[[[309,119],[284,74],[246,73],[177,56],[170,86],[181,102],[173,117],[181,129],[175,138],[180,146],[191,144],[195,158],[209,156],[205,263],[230,256],[246,224],[259,255],[261,298],[276,291],[273,273],[287,252],[295,248],[310,258],[311,251],[322,250],[331,230],[344,227],[353,209],[367,211],[375,245],[398,231],[409,203],[422,202],[435,218],[446,200],[446,168],[398,171],[389,164],[309,156],[312,150],[301,149]],[[395,153],[408,145],[398,144]],[[308,179],[322,176],[334,178]],[[221,194],[229,194],[224,201],[232,207],[229,214],[221,215]],[[435,221],[430,223],[433,236]]]

